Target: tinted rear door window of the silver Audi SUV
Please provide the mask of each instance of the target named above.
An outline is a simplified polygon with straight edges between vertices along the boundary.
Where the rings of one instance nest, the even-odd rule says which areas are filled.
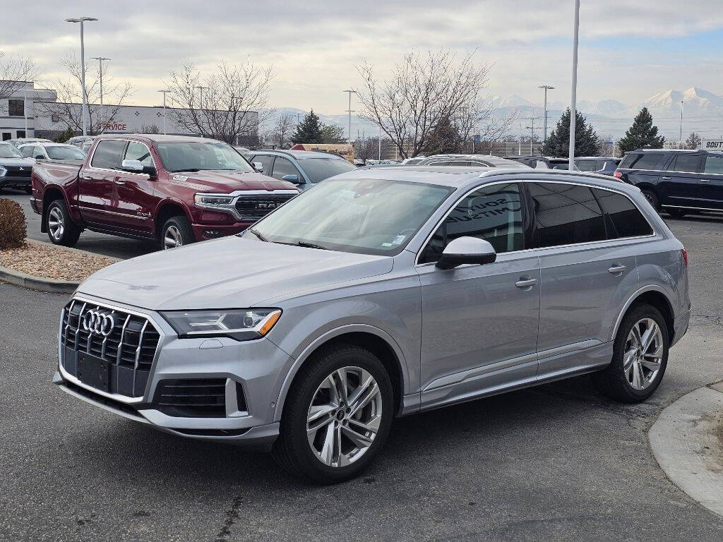
[[[602,210],[587,186],[561,183],[530,183],[535,224],[535,247],[602,241],[605,223]]]

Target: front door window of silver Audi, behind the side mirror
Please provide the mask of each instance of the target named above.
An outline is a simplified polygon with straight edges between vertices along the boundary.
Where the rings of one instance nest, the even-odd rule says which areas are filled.
[[[419,263],[437,262],[455,238],[485,239],[498,254],[524,248],[519,186],[515,183],[483,187],[463,197],[424,247]]]

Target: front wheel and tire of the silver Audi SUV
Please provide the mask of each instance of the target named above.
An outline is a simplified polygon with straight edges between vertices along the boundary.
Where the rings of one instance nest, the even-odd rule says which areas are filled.
[[[330,385],[325,387],[333,377],[335,384],[341,382],[338,378],[340,373],[346,375],[348,405],[341,404],[342,395],[333,391]],[[376,382],[376,387],[369,377]],[[362,387],[361,382],[367,382],[369,386]],[[362,389],[358,397],[361,401],[355,401],[354,392],[358,392],[359,388]],[[369,400],[367,395],[372,399]],[[365,402],[367,404],[363,408],[354,411],[354,405]],[[334,405],[341,408],[327,410],[323,416],[318,416],[327,408],[336,408]],[[309,421],[314,406],[318,408],[318,417]],[[356,345],[332,345],[316,353],[294,379],[286,397],[273,455],[289,473],[314,483],[338,483],[354,478],[372,463],[384,445],[393,408],[392,384],[379,358]],[[377,429],[376,434],[362,429],[358,422],[366,423],[366,428]],[[307,436],[309,423],[318,428],[312,435],[313,442]],[[360,438],[363,444],[359,443]],[[327,442],[332,445],[325,455]],[[322,458],[325,456],[327,460]]]

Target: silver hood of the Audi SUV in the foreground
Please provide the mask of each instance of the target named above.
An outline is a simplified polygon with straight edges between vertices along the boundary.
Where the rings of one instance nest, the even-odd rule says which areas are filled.
[[[382,275],[393,259],[226,237],[128,259],[79,293],[151,310],[228,309]]]

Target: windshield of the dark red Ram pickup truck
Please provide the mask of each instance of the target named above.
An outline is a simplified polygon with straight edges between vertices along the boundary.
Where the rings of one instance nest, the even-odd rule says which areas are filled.
[[[221,142],[174,141],[155,144],[168,171],[224,170],[253,173],[254,169],[234,147]]]

